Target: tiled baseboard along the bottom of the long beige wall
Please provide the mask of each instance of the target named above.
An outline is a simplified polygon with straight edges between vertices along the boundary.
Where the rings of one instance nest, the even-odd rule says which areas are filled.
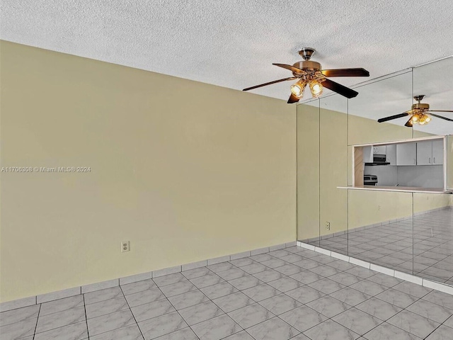
[[[191,269],[200,268],[204,266],[210,266],[211,264],[222,263],[226,261],[241,259],[247,256],[253,256],[258,254],[268,253],[269,251],[275,251],[278,249],[285,249],[289,246],[295,246],[296,241],[276,244],[273,246],[266,246],[260,249],[253,249],[251,251],[243,251],[241,253],[231,254],[227,256],[221,256],[214,259],[207,259],[203,261],[197,261],[193,263],[185,263],[180,266],[174,266],[171,268],[163,268],[157,271],[149,271],[147,273],[139,273],[132,276],[126,276],[124,278],[115,278],[113,280],[107,280],[98,283],[91,283],[89,285],[81,285],[79,287],[59,290],[57,292],[46,293],[41,295],[35,295],[30,297],[25,297],[23,299],[12,300],[7,302],[0,303],[0,312],[6,312],[7,310],[15,310],[16,308],[28,307],[31,305],[37,305],[43,302],[49,302],[53,300],[59,300],[64,297],[70,297],[74,295],[84,294],[94,292],[96,290],[101,290],[105,288],[112,288],[118,285],[125,285],[127,283],[134,283],[142,280],[148,280],[149,278],[158,278],[159,276],[164,276],[172,273],[180,273],[181,271],[190,271]]]

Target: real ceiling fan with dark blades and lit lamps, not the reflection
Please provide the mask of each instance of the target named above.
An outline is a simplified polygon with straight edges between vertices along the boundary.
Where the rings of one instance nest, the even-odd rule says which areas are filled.
[[[304,90],[306,85],[309,85],[311,95],[314,98],[318,98],[323,93],[323,87],[330,89],[341,96],[346,98],[353,98],[359,94],[357,91],[349,89],[346,86],[331,81],[326,77],[369,77],[369,72],[366,69],[321,69],[319,62],[310,60],[311,56],[316,51],[310,47],[304,47],[299,51],[299,55],[304,58],[301,62],[296,62],[292,66],[287,64],[273,64],[284,69],[292,71],[293,77],[270,81],[265,84],[260,84],[242,91],[248,91],[257,89],[261,86],[267,86],[270,84],[280,83],[280,81],[298,79],[297,83],[291,86],[291,96],[289,96],[288,103],[297,103],[297,101],[304,96]]]

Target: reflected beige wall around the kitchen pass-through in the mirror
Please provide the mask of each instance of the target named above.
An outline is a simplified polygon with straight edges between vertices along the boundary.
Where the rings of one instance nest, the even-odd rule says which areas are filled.
[[[348,193],[337,188],[346,182],[352,185],[352,147],[348,145],[411,139],[411,129],[304,104],[297,106],[297,122],[298,239],[452,205],[452,195],[414,194],[413,199],[411,193]],[[427,136],[416,132],[414,137]],[[331,222],[330,230],[325,222]]]

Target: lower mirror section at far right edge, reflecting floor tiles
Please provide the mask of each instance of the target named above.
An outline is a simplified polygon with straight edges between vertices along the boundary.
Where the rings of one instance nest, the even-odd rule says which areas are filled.
[[[452,195],[413,194],[413,271],[453,285]]]

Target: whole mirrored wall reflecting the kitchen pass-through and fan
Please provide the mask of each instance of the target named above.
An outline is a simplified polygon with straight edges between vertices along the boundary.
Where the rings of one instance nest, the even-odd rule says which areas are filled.
[[[452,76],[449,57],[297,107],[299,241],[453,284]]]

